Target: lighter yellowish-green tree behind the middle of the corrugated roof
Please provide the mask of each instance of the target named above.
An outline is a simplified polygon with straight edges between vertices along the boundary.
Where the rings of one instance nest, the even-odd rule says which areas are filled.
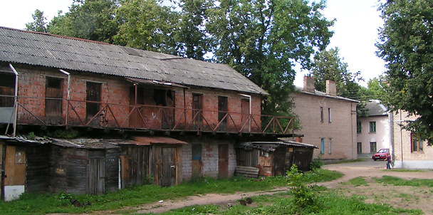
[[[172,37],[177,13],[157,0],[123,0],[116,20],[120,24],[114,37],[122,46],[175,53]]]

